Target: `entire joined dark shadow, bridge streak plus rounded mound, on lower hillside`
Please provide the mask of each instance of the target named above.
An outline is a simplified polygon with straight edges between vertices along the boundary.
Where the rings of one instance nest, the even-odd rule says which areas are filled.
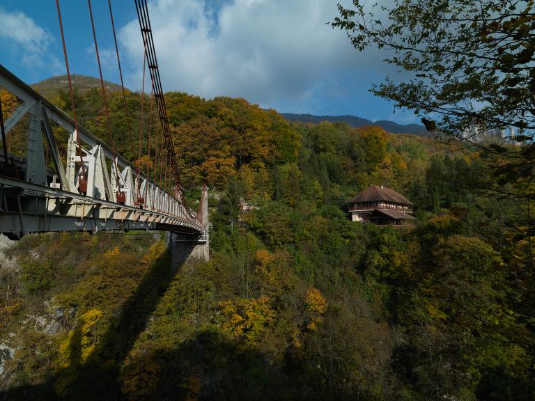
[[[173,262],[171,262],[173,260]],[[129,356],[157,304],[169,289],[177,255],[168,250],[148,269],[97,348],[86,361],[84,322],[72,333],[69,366],[43,384],[0,393],[1,400],[350,400],[329,392],[320,370],[299,354],[229,341],[204,329],[181,344]],[[176,269],[170,269],[173,265]],[[128,359],[127,359],[127,356]]]

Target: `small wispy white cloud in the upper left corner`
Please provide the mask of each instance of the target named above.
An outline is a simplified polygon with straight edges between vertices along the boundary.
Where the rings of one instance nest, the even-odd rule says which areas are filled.
[[[54,38],[36,22],[20,11],[7,12],[0,9],[0,39],[10,51],[20,52],[21,60],[28,68],[45,65],[48,46]],[[56,59],[49,60],[56,65]]]

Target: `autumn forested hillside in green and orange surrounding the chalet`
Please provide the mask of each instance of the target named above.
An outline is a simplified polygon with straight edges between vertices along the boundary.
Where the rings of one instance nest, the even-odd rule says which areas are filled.
[[[140,119],[110,96],[114,146],[137,159]],[[98,91],[76,98],[105,139]],[[24,237],[1,267],[3,398],[535,398],[532,233],[517,225],[534,210],[508,196],[521,177],[488,168],[499,154],[242,99],[166,104],[194,208],[210,187],[210,261],[173,269],[164,235]],[[407,196],[416,225],[348,221],[372,183]]]

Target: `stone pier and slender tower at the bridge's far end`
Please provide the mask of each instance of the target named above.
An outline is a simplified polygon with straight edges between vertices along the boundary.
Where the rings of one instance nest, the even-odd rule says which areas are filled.
[[[171,253],[171,267],[176,268],[188,260],[210,259],[208,187],[206,187],[206,185],[204,185],[202,189],[199,221],[205,230],[205,234],[202,236],[170,233],[169,252]]]

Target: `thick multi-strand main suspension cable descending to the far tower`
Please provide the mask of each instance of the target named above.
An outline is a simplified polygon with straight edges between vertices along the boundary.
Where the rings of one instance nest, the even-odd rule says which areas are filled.
[[[153,81],[155,100],[160,115],[160,123],[162,125],[163,137],[166,142],[166,147],[169,150],[169,165],[173,174],[173,180],[176,186],[176,197],[185,205],[191,219],[196,219],[195,214],[187,207],[187,202],[183,194],[183,187],[180,182],[180,171],[173,146],[173,139],[171,137],[171,130],[169,128],[169,120],[167,118],[167,111],[165,107],[164,93],[162,91],[162,82],[160,79],[160,70],[155,53],[155,46],[153,40],[153,33],[150,26],[150,18],[148,16],[148,6],[146,0],[136,0],[137,17],[139,20],[139,27],[141,29],[141,36],[146,44],[146,54],[148,60],[148,69],[150,72],[150,79]],[[173,191],[175,192],[175,191]]]

